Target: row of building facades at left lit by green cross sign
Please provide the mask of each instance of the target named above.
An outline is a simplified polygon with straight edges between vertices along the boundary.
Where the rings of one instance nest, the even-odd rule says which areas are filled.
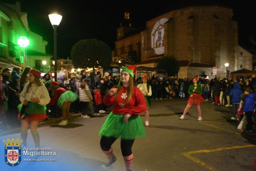
[[[20,38],[28,40],[27,47],[21,47]],[[26,67],[48,72],[52,55],[45,54],[47,42],[30,31],[27,13],[21,11],[19,2],[0,3],[0,67]],[[42,61],[46,61],[47,67]]]

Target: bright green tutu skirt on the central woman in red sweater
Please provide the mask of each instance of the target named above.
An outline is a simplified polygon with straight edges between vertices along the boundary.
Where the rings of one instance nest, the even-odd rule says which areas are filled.
[[[121,140],[133,140],[146,136],[142,119],[139,115],[131,116],[128,122],[123,122],[123,116],[111,112],[102,125],[99,135],[120,138]]]

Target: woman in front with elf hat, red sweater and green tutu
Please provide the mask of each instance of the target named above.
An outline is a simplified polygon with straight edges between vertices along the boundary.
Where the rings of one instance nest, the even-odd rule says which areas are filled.
[[[120,138],[126,171],[131,171],[134,139],[146,136],[139,114],[146,110],[147,104],[142,92],[134,85],[134,73],[135,66],[124,67],[117,88],[110,89],[103,99],[106,106],[112,106],[112,112],[99,132],[99,135],[102,135],[101,149],[109,159],[108,163],[102,165],[103,168],[108,168],[116,161],[111,145]]]

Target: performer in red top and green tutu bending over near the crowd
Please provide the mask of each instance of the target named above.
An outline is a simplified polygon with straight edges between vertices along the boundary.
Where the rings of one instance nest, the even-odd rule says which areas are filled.
[[[73,101],[77,100],[77,95],[74,92],[67,91],[60,87],[59,82],[52,81],[52,98],[49,105],[55,105],[62,109],[63,120],[58,125],[68,124],[69,108]]]

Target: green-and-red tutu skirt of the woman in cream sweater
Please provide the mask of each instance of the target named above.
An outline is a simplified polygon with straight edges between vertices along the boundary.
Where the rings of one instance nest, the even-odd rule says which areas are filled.
[[[21,119],[20,111],[22,110],[22,103],[19,104],[18,107],[18,119]],[[25,113],[28,114],[28,116],[24,119],[28,122],[31,121],[41,121],[46,119],[46,106],[42,106],[38,103],[29,102],[28,106],[25,109]]]

